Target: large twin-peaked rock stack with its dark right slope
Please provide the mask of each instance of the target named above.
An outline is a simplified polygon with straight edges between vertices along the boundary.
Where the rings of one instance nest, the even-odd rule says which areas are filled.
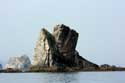
[[[35,48],[34,64],[42,67],[97,68],[82,58],[76,50],[79,34],[63,24],[54,27],[53,34],[42,29]]]

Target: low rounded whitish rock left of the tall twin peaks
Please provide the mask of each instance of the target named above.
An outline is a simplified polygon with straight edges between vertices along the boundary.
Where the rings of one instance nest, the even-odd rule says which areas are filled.
[[[20,57],[11,57],[9,58],[8,63],[5,66],[5,69],[28,71],[31,66],[31,62],[28,56],[22,55]]]

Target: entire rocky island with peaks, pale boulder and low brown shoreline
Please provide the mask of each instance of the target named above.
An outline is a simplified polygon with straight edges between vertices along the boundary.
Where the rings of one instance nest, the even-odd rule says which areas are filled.
[[[97,65],[76,50],[79,33],[64,24],[56,25],[53,33],[41,29],[31,64],[28,56],[12,57],[0,72],[75,72],[125,71],[125,67]]]

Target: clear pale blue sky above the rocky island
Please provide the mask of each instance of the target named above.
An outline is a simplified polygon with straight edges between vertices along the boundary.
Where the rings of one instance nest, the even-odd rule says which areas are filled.
[[[33,59],[41,28],[79,32],[77,50],[96,64],[125,66],[125,0],[0,0],[0,63]]]

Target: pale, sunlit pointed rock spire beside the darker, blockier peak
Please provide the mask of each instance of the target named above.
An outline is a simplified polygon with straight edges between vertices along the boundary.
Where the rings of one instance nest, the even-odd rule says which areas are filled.
[[[46,29],[41,29],[36,43],[33,65],[51,67],[55,64],[57,55],[54,37]]]

